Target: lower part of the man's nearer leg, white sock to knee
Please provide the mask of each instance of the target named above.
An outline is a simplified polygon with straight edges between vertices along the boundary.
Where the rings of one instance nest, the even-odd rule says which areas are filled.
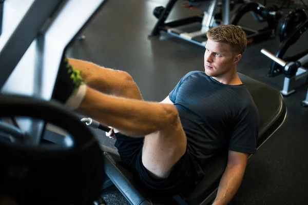
[[[159,131],[168,123],[172,105],[106,95],[87,87],[79,111],[129,136]],[[172,110],[172,109],[171,109]]]

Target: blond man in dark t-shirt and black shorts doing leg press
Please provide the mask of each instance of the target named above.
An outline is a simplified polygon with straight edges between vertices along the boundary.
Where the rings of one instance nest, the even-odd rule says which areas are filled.
[[[222,25],[207,37],[205,72],[186,74],[161,103],[143,101],[129,74],[76,59],[67,64],[76,92],[57,92],[62,86],[57,79],[53,98],[117,129],[121,159],[145,185],[162,193],[192,191],[213,156],[228,150],[213,203],[227,204],[240,186],[248,155],[256,153],[259,116],[236,69],[245,33]],[[86,85],[70,66],[81,71]]]

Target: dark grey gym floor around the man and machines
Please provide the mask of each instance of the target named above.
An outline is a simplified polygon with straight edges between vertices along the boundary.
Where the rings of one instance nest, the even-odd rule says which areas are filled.
[[[164,33],[148,38],[157,21],[152,15],[153,9],[167,2],[107,1],[82,32],[86,39],[75,42],[69,49],[69,56],[127,71],[139,85],[145,100],[164,99],[187,72],[203,70],[204,54],[204,48]],[[181,2],[172,10],[169,19],[200,13],[198,9],[181,8]],[[290,10],[283,9],[284,14]],[[250,14],[244,17],[240,22],[243,26],[257,29],[264,25],[257,23]],[[306,49],[307,33],[286,55]],[[238,71],[281,90],[283,76],[266,77],[271,60],[260,53],[262,48],[275,53],[278,47],[278,37],[248,46]],[[253,156],[230,204],[307,204],[308,108],[300,105],[307,88],[301,87],[295,94],[285,97],[288,109],[285,124]],[[102,144],[114,148],[114,140],[104,132],[95,130],[95,134]],[[109,204],[128,204],[114,186],[104,191],[103,197]]]

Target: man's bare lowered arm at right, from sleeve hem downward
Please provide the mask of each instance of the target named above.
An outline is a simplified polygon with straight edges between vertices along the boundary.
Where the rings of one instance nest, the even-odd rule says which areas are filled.
[[[229,151],[228,163],[213,205],[225,205],[234,197],[244,176],[248,154]]]

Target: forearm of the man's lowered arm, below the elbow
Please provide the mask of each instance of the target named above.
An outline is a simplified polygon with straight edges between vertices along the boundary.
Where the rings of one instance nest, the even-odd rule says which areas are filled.
[[[230,202],[238,191],[244,176],[243,168],[227,166],[218,187],[218,192],[213,205],[225,205]]]

